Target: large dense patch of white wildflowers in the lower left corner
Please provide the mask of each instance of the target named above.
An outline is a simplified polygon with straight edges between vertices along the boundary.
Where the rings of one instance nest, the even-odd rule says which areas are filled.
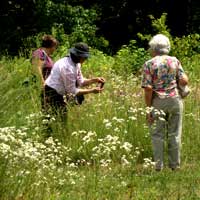
[[[71,150],[63,146],[57,139],[49,137],[38,142],[28,137],[26,128],[0,128],[0,170],[1,183],[9,183],[9,187],[29,190],[74,184],[80,177],[76,173],[75,164],[70,158]],[[15,191],[15,190],[12,190]],[[10,193],[9,191],[7,191]],[[16,190],[17,192],[17,190]],[[14,195],[14,194],[13,194]]]

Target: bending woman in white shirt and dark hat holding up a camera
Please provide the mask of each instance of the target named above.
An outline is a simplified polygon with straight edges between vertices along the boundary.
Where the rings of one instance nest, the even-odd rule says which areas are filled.
[[[102,77],[85,79],[82,75],[81,65],[89,57],[89,47],[87,44],[77,43],[69,52],[69,56],[59,59],[54,64],[44,87],[45,111],[48,114],[61,114],[64,118],[67,113],[66,103],[70,98],[79,99],[81,104],[83,95],[102,92],[103,87],[101,85],[105,82]],[[93,83],[100,84],[98,87],[82,88]],[[64,100],[64,97],[66,97],[67,101]]]

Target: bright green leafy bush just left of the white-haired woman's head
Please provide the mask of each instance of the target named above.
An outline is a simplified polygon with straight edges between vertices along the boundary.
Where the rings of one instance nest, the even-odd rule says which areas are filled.
[[[138,48],[135,40],[129,45],[124,45],[115,56],[113,69],[117,74],[130,75],[137,73],[148,58],[144,48]]]

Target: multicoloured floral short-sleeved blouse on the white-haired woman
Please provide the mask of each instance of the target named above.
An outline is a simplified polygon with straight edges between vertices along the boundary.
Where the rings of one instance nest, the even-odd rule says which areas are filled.
[[[142,87],[151,86],[160,98],[177,96],[176,78],[181,79],[184,70],[176,57],[155,56],[145,62],[142,74]]]

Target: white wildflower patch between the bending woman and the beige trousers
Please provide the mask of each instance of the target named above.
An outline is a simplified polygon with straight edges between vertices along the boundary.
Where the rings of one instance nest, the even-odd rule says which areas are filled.
[[[115,118],[119,123],[123,120]],[[105,120],[106,121],[106,120]],[[94,131],[75,131],[72,133],[74,140],[82,141],[79,144],[78,151],[87,157],[87,163],[97,162],[102,167],[108,167],[114,162],[120,162],[123,166],[135,163],[139,149],[134,149],[133,145],[127,141],[122,141],[117,135],[106,135],[98,138]],[[82,161],[83,162],[83,161]],[[86,163],[86,161],[84,160]]]

